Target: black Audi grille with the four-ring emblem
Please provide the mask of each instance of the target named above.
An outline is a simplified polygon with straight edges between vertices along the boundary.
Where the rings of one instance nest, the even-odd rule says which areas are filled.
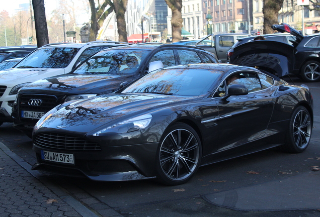
[[[41,104],[29,105],[30,99],[41,100]],[[18,109],[21,111],[32,111],[32,112],[49,112],[57,105],[57,97],[54,95],[41,95],[41,94],[23,94],[18,99]]]

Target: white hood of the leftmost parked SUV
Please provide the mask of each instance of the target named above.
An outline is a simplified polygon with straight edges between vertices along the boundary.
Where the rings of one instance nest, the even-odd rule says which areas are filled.
[[[13,87],[17,84],[33,82],[42,78],[50,77],[53,75],[63,74],[64,69],[43,69],[43,68],[32,68],[32,69],[20,69],[11,68],[0,71],[0,85],[6,85]]]

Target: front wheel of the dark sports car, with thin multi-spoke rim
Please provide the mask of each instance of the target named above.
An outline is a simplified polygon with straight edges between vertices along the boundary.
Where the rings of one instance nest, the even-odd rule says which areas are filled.
[[[201,141],[189,125],[177,123],[169,127],[159,142],[156,172],[159,182],[179,185],[197,172],[202,156]]]

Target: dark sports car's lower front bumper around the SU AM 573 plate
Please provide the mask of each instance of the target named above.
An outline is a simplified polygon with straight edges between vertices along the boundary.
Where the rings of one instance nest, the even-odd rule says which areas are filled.
[[[155,177],[158,143],[103,147],[101,151],[62,151],[33,145],[37,163],[32,167],[43,173],[87,177],[95,181],[125,181]],[[43,160],[41,150],[74,155],[74,164]]]

